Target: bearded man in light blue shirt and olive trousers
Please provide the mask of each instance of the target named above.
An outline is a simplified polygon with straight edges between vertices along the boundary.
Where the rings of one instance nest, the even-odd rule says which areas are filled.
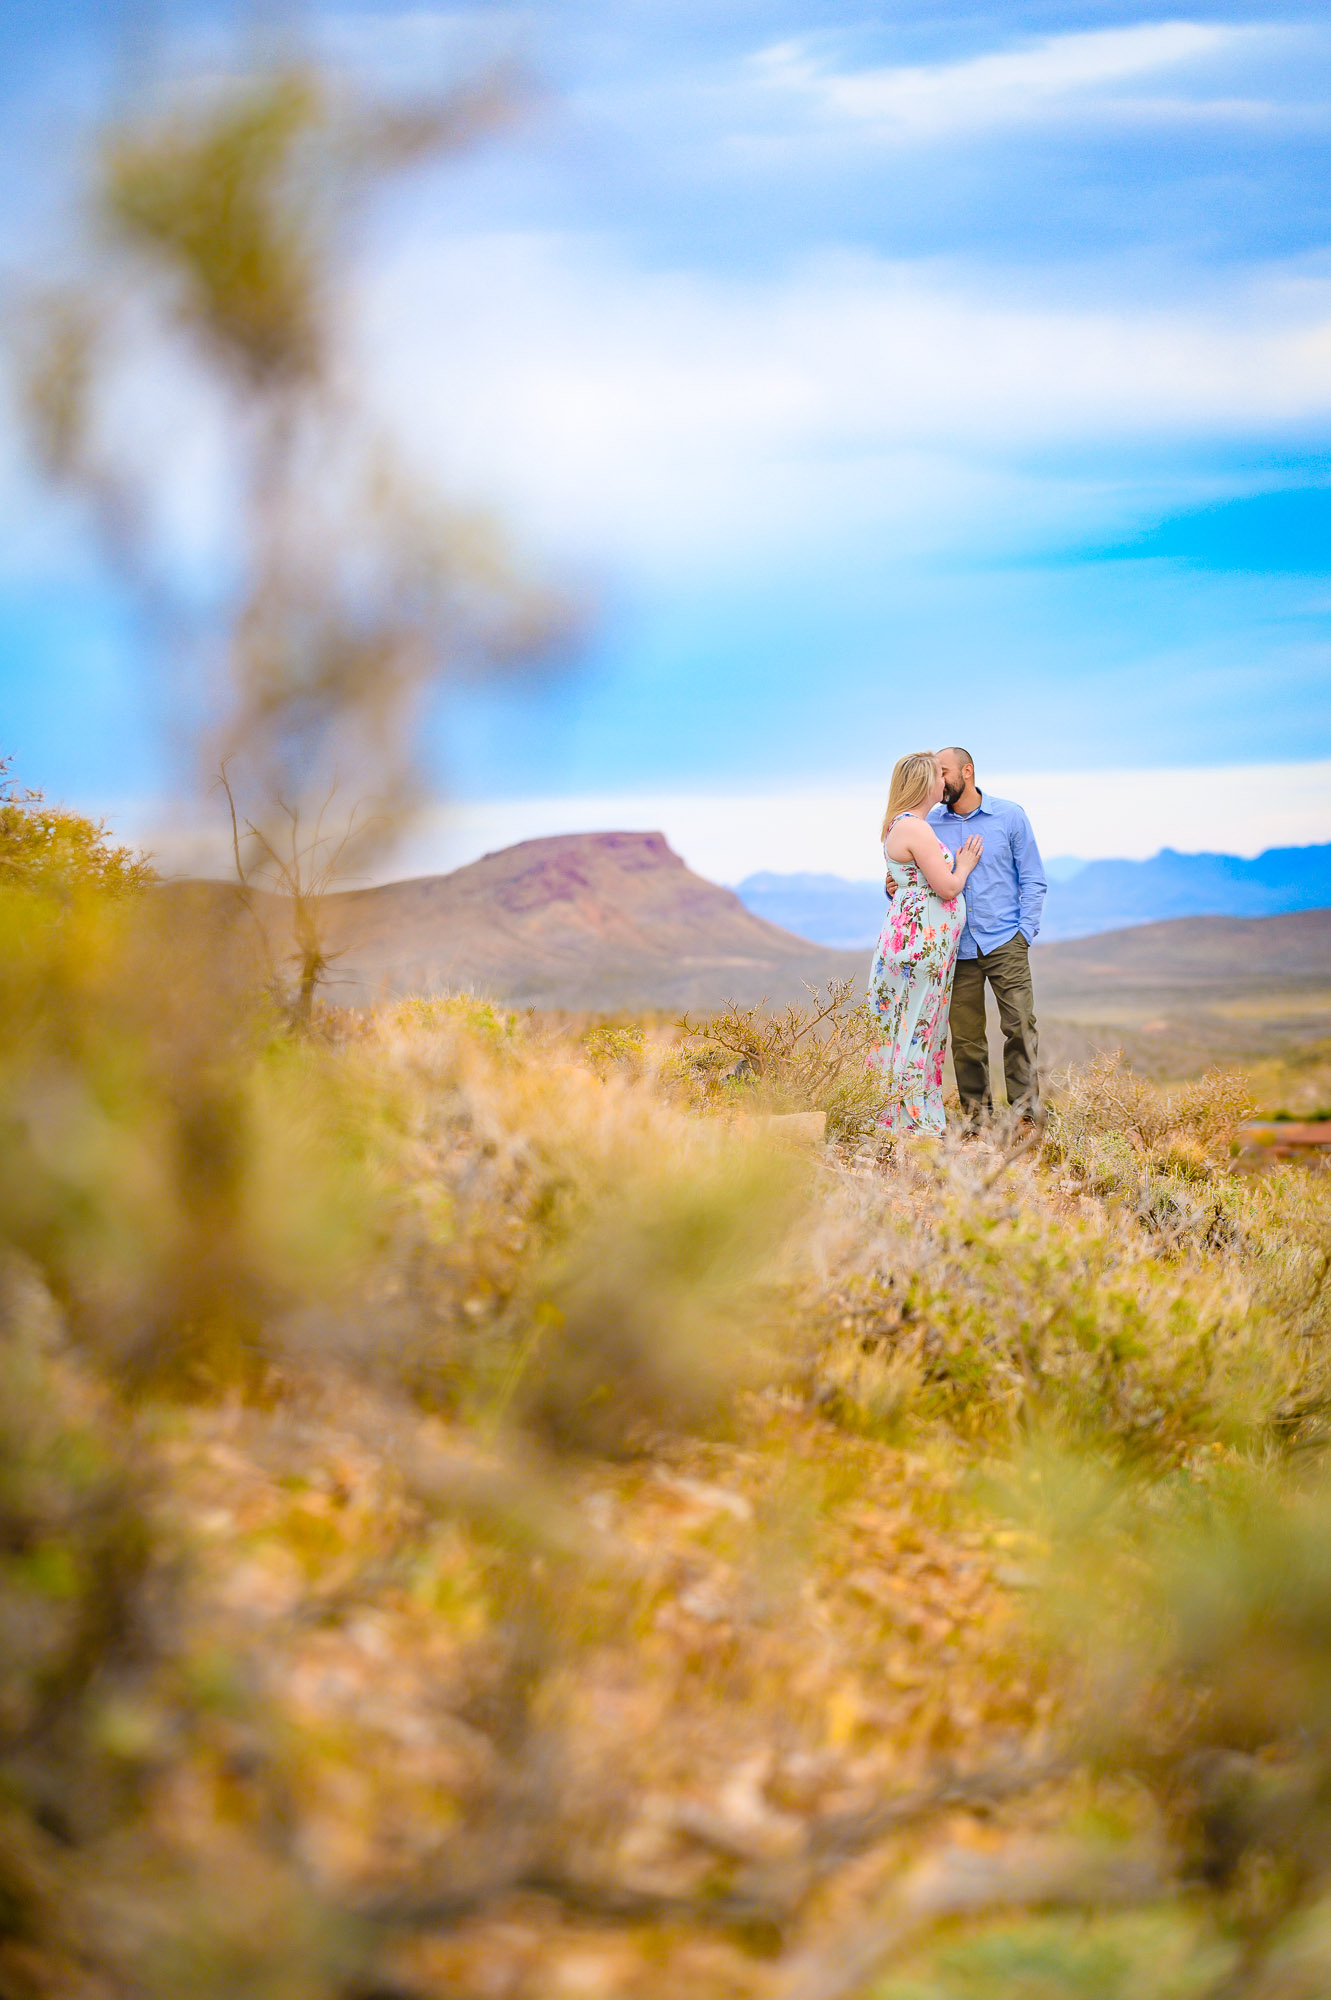
[[[943,802],[929,826],[953,854],[967,834],[981,834],[985,850],[965,884],[965,930],[957,946],[951,986],[951,1066],[957,1072],[961,1112],[975,1124],[993,1114],[989,1088],[989,1038],[985,984],[993,988],[1003,1026],[1003,1080],[1007,1102],[1019,1118],[1039,1124],[1039,1042],[1031,992],[1031,944],[1039,936],[1045,870],[1035,834],[1021,806],[985,798],[975,784],[969,750],[939,750]]]

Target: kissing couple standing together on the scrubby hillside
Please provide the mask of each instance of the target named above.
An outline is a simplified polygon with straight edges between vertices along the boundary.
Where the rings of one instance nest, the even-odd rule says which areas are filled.
[[[1021,806],[977,788],[969,750],[915,750],[891,772],[883,858],[889,904],[869,974],[879,1132],[941,1136],[949,1016],[961,1118],[975,1128],[993,1116],[985,984],[1003,1024],[1007,1104],[1035,1128],[1029,950],[1047,884],[1031,822]]]

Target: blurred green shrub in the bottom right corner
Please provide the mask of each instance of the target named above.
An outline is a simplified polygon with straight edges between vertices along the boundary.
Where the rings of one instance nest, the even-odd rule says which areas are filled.
[[[1331,1492],[1219,1460],[1141,1494],[1039,1482],[1047,1616],[1081,1662],[1079,1748],[1153,1798],[1231,1964],[1201,1990],[1331,1974]],[[1143,1504],[1145,1502],[1145,1504]]]

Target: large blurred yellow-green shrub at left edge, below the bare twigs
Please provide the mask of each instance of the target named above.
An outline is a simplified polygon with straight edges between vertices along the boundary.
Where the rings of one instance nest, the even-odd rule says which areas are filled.
[[[226,900],[0,896],[4,1232],[130,1378],[254,1382],[374,1212],[260,990]]]

